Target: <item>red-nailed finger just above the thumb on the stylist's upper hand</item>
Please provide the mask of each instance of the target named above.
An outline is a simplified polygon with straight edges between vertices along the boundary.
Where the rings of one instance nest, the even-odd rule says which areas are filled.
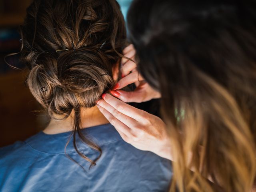
[[[143,78],[142,78],[142,76],[140,76],[138,71],[134,71],[134,72],[128,74],[127,76],[125,76],[124,78],[120,79],[120,81],[116,84],[114,90],[122,89],[129,84],[135,83],[137,81],[142,81],[142,80],[143,80]]]

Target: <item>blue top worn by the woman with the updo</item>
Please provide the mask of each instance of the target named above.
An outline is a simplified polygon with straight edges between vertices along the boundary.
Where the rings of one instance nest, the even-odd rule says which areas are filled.
[[[124,142],[110,124],[82,130],[98,144],[102,156],[96,166],[74,150],[71,132],[38,134],[0,148],[1,192],[164,192],[172,177],[171,162]],[[79,142],[90,159],[98,152]],[[81,167],[82,166],[82,167]]]

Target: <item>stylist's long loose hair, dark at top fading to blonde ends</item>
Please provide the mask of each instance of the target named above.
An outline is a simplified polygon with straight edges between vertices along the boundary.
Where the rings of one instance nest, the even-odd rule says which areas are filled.
[[[217,191],[209,178],[225,192],[249,192],[256,170],[256,2],[135,0],[128,28],[138,70],[162,95],[174,156],[171,191]]]

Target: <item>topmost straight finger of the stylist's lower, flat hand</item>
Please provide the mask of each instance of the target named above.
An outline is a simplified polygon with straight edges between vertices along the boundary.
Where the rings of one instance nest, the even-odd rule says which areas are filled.
[[[143,119],[144,115],[147,113],[143,110],[137,109],[133,106],[130,106],[121,100],[111,96],[110,94],[103,94],[102,98],[113,108],[121,112],[122,114],[135,119],[136,121],[140,121]],[[105,107],[105,106],[104,106]],[[106,106],[108,107],[108,106]]]

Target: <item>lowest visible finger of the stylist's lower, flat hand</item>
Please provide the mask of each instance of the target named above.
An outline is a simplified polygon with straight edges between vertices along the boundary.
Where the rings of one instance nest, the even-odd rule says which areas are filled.
[[[116,130],[118,130],[119,134],[121,135],[121,137],[123,138],[127,138],[128,136],[131,135],[130,133],[130,128],[128,128],[125,124],[123,124],[122,122],[120,122],[118,119],[116,119],[110,112],[108,112],[108,110],[106,110],[105,108],[97,105],[98,109],[100,110],[100,112],[106,117],[106,119],[110,122],[110,124],[112,124]],[[124,139],[123,138],[123,139]]]

